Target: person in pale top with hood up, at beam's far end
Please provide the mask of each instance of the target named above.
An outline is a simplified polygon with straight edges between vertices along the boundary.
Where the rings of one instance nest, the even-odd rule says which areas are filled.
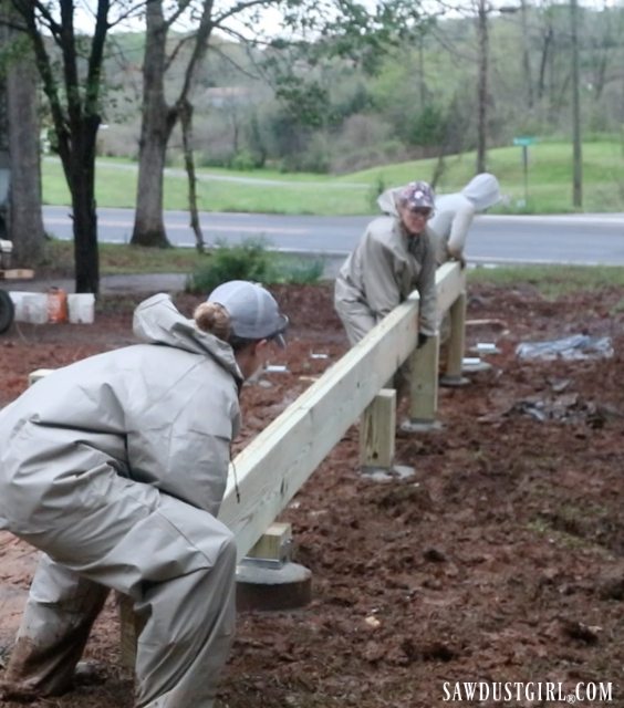
[[[501,199],[498,179],[489,173],[481,173],[461,191],[436,198],[436,209],[429,220],[429,229],[437,239],[438,266],[456,260],[465,266],[464,249],[468,229],[475,215],[493,207]]]

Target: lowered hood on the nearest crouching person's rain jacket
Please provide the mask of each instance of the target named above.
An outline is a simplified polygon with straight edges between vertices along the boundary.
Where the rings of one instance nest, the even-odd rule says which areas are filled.
[[[237,381],[242,381],[231,346],[214,334],[198,330],[193,320],[178,312],[166,293],[153,295],[136,308],[133,331],[148,344],[166,344],[194,354],[210,356]]]

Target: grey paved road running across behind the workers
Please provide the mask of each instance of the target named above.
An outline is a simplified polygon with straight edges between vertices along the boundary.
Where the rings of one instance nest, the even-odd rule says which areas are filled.
[[[127,243],[132,209],[100,209],[100,239]],[[202,214],[201,228],[209,242],[227,243],[263,238],[284,251],[343,257],[357,242],[371,217],[309,217],[256,214]],[[45,228],[71,238],[66,207],[44,208]],[[167,233],[176,246],[194,246],[188,215],[166,214]],[[624,266],[624,214],[568,216],[489,216],[475,219],[467,257],[474,262],[586,263]]]

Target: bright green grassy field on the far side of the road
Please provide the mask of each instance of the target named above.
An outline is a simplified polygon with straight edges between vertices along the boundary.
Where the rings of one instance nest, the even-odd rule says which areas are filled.
[[[538,142],[528,148],[528,189],[520,147],[488,153],[488,169],[500,180],[506,204],[500,214],[565,214],[572,208],[572,146]],[[475,154],[446,158],[438,192],[460,189],[474,175]],[[350,216],[375,214],[379,186],[391,187],[413,179],[430,179],[436,160],[426,159],[373,167],[351,175],[284,175],[274,170],[198,170],[198,204],[205,211],[310,214]],[[42,166],[45,204],[66,205],[70,195],[61,165],[45,159]],[[232,181],[231,178],[243,181]],[[101,159],[97,163],[96,199],[101,207],[134,207],[136,163]],[[266,184],[269,183],[277,184]],[[624,145],[617,140],[593,140],[583,145],[583,210],[622,211],[624,202]],[[180,168],[165,175],[165,209],[187,208],[186,176]]]

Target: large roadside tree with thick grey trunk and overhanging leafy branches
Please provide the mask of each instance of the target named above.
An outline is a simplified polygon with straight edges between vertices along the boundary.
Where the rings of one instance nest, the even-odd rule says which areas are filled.
[[[186,128],[190,128],[191,92],[212,32],[220,30],[251,45],[263,43],[268,38],[262,37],[260,19],[261,12],[267,9],[277,9],[282,13],[281,29],[284,32],[303,37],[303,40],[298,39],[295,43],[304,50],[303,54],[311,63],[321,56],[350,58],[361,62],[370,71],[378,65],[382,48],[396,38],[404,37],[423,18],[418,6],[408,0],[388,0],[374,11],[368,11],[355,0],[239,0],[233,6],[225,7],[219,7],[214,0],[150,0],[145,14],[143,125],[132,243],[168,246],[163,220],[163,170],[167,144],[183,114]],[[174,42],[169,46],[173,28],[183,21],[196,29],[184,34],[180,42]],[[314,41],[306,42],[305,33],[313,34]],[[294,43],[292,39],[280,42],[282,46]],[[280,42],[273,40],[273,46],[279,48]],[[186,66],[177,97],[168,102],[165,96],[165,79],[166,72],[173,66],[174,56],[178,60],[178,67],[185,56]],[[297,106],[297,122],[303,122],[306,128],[318,127],[323,123],[324,116],[321,115],[320,107],[325,95],[321,85],[312,82],[302,86],[297,77],[282,74],[280,91],[289,106]],[[189,145],[188,140],[186,145]],[[190,166],[193,155],[188,150],[185,159],[187,166]],[[193,185],[191,173],[193,168],[189,171]],[[196,210],[193,198],[190,207],[191,212]],[[198,237],[198,248],[201,247],[202,242]]]

